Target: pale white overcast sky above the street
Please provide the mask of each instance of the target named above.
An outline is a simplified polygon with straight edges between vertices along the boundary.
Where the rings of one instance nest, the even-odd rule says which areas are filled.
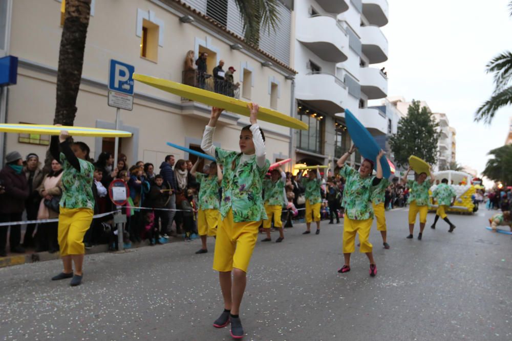
[[[389,96],[426,101],[445,112],[457,130],[457,162],[483,171],[490,149],[502,146],[512,106],[498,111],[490,126],[473,122],[489,98],[493,77],[485,65],[512,50],[508,0],[388,0],[386,66]]]

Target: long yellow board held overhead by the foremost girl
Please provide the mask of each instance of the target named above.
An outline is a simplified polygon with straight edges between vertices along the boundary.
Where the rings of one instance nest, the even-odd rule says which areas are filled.
[[[167,79],[161,79],[146,75],[133,74],[133,79],[138,80],[147,85],[154,86],[168,93],[175,94],[192,101],[204,103],[206,105],[223,108],[227,111],[239,113],[240,115],[250,116],[247,104],[249,102],[242,101],[233,97],[217,94],[198,87],[173,82]],[[261,107],[258,112],[258,120],[278,124],[281,126],[307,130],[308,125],[301,120],[294,119],[284,113],[269,108]]]

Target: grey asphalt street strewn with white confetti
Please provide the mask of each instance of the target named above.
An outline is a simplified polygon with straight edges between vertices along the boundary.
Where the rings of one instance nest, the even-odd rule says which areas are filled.
[[[373,226],[378,274],[362,254],[343,264],[343,225],[322,222],[281,244],[258,243],[242,303],[245,340],[512,340],[512,240],[487,211],[451,215],[405,239],[407,209],[387,213],[390,250]],[[433,221],[429,214],[429,223]],[[417,228],[418,229],[418,228]],[[272,234],[273,239],[277,233]],[[260,235],[260,239],[263,235]],[[0,340],[229,340],[210,252],[199,241],[87,256],[84,281],[52,282],[60,261],[0,269]]]

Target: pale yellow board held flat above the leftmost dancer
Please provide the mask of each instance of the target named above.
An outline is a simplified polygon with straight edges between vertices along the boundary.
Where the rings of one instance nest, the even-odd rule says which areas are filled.
[[[43,124],[0,124],[0,132],[14,132],[21,134],[41,134],[41,135],[60,135],[62,130],[66,130],[71,136],[86,136],[97,138],[131,138],[132,133],[123,130],[75,127],[75,126],[55,126]]]

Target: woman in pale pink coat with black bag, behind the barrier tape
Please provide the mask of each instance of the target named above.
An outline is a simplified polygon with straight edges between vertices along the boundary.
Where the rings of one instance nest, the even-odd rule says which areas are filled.
[[[60,201],[62,195],[62,166],[57,160],[52,160],[52,170],[42,180],[42,184],[37,188],[41,201],[37,211],[37,219],[55,219],[59,217],[59,212],[52,210],[45,205],[45,200]],[[48,201],[47,201],[48,202]],[[59,251],[57,240],[58,222],[47,222],[39,224],[36,233],[36,252],[49,251],[54,253]]]

